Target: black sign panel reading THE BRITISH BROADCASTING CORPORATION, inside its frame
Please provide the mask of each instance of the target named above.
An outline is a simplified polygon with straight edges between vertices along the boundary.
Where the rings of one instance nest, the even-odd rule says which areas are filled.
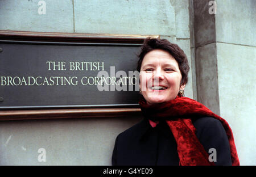
[[[120,41],[1,40],[0,109],[137,107],[141,43]]]

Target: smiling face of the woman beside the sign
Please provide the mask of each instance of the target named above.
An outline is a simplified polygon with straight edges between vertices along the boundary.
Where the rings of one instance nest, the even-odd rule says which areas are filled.
[[[175,99],[180,86],[181,72],[177,61],[164,50],[148,52],[142,61],[139,74],[142,95],[148,104],[168,102]]]

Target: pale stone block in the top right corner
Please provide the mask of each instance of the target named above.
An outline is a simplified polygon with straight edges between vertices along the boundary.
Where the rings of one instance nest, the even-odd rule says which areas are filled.
[[[256,1],[217,0],[216,2],[216,40],[255,47]]]

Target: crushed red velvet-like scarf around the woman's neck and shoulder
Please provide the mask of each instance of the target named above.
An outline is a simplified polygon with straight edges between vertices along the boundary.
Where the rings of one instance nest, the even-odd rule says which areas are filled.
[[[180,165],[214,165],[213,162],[209,162],[209,155],[196,137],[196,128],[192,124],[191,119],[201,116],[214,117],[221,121],[228,136],[232,165],[240,165],[229,124],[203,104],[180,96],[169,102],[154,105],[148,105],[143,98],[139,101],[139,104],[144,116],[148,119],[152,121],[165,120],[167,122],[177,142]]]

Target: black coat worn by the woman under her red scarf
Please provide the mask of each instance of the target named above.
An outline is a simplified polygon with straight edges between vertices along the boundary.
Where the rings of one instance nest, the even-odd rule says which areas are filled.
[[[221,122],[213,117],[201,117],[192,123],[205,150],[216,149],[215,165],[232,165],[228,137]],[[143,119],[120,133],[115,140],[112,165],[179,165],[177,144],[166,122],[152,128]]]

